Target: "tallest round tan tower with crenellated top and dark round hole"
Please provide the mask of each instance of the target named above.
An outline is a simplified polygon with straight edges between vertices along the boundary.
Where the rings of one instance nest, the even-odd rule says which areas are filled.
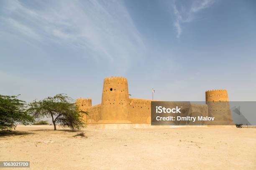
[[[99,123],[130,123],[128,121],[128,82],[125,77],[104,79]]]

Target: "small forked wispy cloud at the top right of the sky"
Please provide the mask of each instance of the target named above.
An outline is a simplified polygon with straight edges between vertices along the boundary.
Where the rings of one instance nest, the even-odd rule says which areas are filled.
[[[181,5],[180,9],[174,1],[172,7],[174,11],[174,27],[177,30],[177,38],[182,34],[182,23],[189,23],[195,19],[195,14],[199,13],[201,10],[204,10],[207,7],[210,7],[215,0],[196,0],[189,7],[184,7]]]

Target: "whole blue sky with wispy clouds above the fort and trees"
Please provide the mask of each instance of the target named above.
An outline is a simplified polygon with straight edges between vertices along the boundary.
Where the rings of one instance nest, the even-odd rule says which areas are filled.
[[[0,94],[101,102],[104,77],[132,97],[256,100],[254,0],[0,1]]]

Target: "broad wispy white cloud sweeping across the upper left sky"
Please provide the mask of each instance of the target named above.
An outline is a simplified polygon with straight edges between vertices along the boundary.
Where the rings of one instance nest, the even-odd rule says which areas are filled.
[[[141,35],[121,1],[34,3],[6,1],[5,17],[0,21],[5,21],[5,27],[13,28],[13,35],[24,40],[78,48],[96,60],[120,60],[125,67],[145,50]]]

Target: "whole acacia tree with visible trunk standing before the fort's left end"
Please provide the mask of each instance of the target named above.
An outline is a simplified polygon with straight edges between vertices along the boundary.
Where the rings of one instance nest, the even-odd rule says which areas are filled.
[[[66,94],[57,94],[39,101],[34,100],[29,104],[27,111],[36,118],[51,117],[54,130],[56,130],[56,124],[72,130],[86,127],[83,117],[88,113],[79,110],[72,98]]]

